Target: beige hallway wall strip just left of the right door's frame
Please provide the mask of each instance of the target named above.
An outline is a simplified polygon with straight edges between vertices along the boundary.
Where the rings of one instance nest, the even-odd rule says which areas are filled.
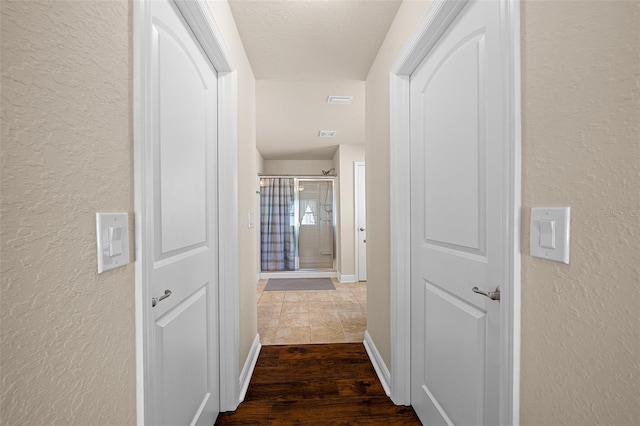
[[[402,2],[366,81],[367,331],[391,365],[389,270],[389,72],[430,2]]]

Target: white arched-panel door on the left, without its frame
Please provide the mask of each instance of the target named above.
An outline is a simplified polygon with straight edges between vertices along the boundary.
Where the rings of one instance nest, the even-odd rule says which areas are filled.
[[[153,190],[143,258],[144,282],[159,300],[146,318],[147,422],[212,425],[220,404],[217,74],[173,2],[149,3],[152,137],[143,179]]]

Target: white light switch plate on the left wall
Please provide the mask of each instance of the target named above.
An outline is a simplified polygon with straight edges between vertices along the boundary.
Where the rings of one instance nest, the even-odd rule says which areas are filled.
[[[96,213],[98,273],[129,263],[129,215]]]

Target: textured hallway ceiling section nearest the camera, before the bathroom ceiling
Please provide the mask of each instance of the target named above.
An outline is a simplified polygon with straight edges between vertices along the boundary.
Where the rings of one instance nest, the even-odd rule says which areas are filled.
[[[364,80],[399,0],[230,0],[256,79]]]

